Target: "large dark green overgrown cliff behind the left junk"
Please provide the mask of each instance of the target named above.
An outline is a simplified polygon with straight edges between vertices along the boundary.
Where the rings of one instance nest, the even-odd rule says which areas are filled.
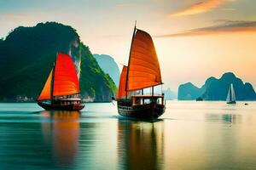
[[[82,98],[109,101],[115,94],[113,80],[80,42],[78,33],[71,26],[47,22],[20,26],[0,40],[0,100],[37,99],[58,52],[72,54],[80,71]]]

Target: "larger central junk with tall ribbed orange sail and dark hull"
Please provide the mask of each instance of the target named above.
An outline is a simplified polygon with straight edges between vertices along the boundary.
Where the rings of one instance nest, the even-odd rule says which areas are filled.
[[[120,116],[154,120],[166,106],[164,94],[154,94],[154,87],[163,84],[154,42],[148,32],[134,27],[128,65],[124,65],[117,95]],[[144,88],[151,90],[144,94]]]

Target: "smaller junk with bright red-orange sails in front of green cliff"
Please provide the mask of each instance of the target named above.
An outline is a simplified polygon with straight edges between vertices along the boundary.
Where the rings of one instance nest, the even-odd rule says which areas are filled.
[[[79,78],[68,54],[58,53],[54,66],[38,97],[38,105],[45,110],[80,111]]]

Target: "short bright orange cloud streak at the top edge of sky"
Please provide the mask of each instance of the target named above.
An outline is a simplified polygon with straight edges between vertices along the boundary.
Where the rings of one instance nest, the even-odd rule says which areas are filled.
[[[212,8],[217,8],[219,5],[230,1],[231,0],[206,0],[204,2],[195,3],[188,8],[183,8],[182,10],[179,10],[176,13],[168,14],[168,16],[184,16],[191,14],[206,13],[212,10]]]

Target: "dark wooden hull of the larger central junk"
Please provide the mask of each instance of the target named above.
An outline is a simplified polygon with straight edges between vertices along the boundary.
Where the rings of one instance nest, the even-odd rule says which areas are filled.
[[[142,120],[154,120],[164,114],[166,111],[165,105],[135,105],[126,106],[118,105],[118,112],[120,116],[128,118],[142,119]]]

